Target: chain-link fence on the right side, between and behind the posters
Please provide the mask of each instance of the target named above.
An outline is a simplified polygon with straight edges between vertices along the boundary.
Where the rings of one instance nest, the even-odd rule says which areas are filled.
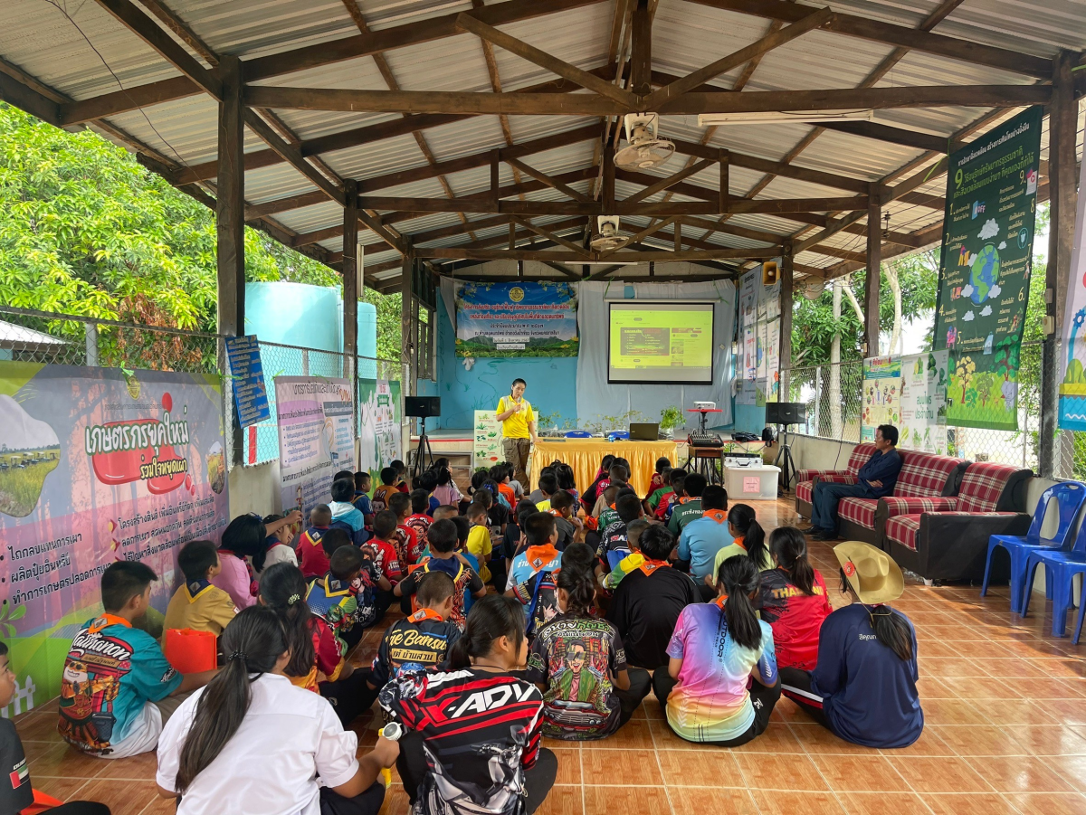
[[[1040,375],[1043,343],[1024,342],[1019,370],[1019,429],[947,428],[947,451],[970,461],[997,461],[1028,468],[1038,463]],[[793,368],[788,373],[790,399],[807,405],[807,423],[796,433],[822,438],[860,441],[863,362]],[[1082,436],[1082,438],[1079,438]],[[1061,432],[1057,436],[1056,474],[1073,477],[1078,473],[1076,445],[1086,454],[1086,434]],[[902,447],[909,447],[905,441]]]

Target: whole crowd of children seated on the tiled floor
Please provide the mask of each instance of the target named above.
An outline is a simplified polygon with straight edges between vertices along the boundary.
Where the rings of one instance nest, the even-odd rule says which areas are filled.
[[[177,673],[142,629],[157,575],[114,563],[65,663],[60,733],[102,757],[157,747],[182,815],[376,815],[393,764],[419,815],[531,813],[557,773],[540,737],[606,738],[649,692],[693,742],[756,738],[782,692],[845,740],[919,738],[915,636],[886,606],[897,565],[838,545],[854,604],[834,612],[801,532],[767,536],[721,486],[656,470],[640,496],[608,456],[581,493],[555,462],[525,496],[497,464],[465,498],[441,460],[411,487],[395,467],[374,491],[339,473],[296,542],[296,511],[236,518],[218,546],[181,548],[165,614],[218,637],[206,672]],[[356,759],[349,726],[375,701],[388,724]]]

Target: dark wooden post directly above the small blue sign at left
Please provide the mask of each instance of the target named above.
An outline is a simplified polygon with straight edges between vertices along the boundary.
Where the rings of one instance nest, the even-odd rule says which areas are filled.
[[[218,105],[218,187],[215,202],[216,271],[218,275],[218,332],[245,333],[245,155],[241,60],[219,62],[223,101]],[[230,459],[243,461],[241,426],[235,411],[229,422]]]

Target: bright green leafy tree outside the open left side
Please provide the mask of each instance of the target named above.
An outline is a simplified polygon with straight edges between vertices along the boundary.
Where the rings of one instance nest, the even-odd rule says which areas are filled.
[[[90,130],[71,133],[3,103],[0,269],[7,305],[215,330],[214,213]],[[245,280],[340,284],[327,266],[251,228]],[[378,354],[397,359],[399,295],[367,291],[366,301],[378,310]],[[41,328],[79,331],[70,321]]]

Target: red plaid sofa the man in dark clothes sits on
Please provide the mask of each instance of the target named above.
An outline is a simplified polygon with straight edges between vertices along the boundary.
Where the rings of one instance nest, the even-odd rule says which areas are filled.
[[[871,451],[874,450],[874,445],[860,445],[860,447],[870,447]],[[862,455],[863,462],[866,462],[870,458],[870,454],[864,450]],[[958,485],[967,467],[965,461],[946,456],[935,456],[930,453],[919,453],[917,450],[899,449],[898,455],[901,457],[902,463],[901,472],[897,476],[897,483],[894,485],[895,497],[900,496],[905,499],[937,499],[942,496],[957,494]],[[856,454],[854,451],[854,458],[849,459],[849,464],[853,464],[855,458]],[[857,472],[859,472],[863,462],[856,468]],[[845,480],[846,477],[848,479],[847,481]],[[845,477],[835,475],[830,479],[823,479],[821,475],[818,475],[816,479],[818,481],[845,484],[855,484],[857,482],[855,473]],[[808,510],[806,514],[808,518],[810,517],[810,496],[815,488],[813,483],[817,482],[812,480],[810,487],[805,488]],[[797,486],[796,511],[799,514],[804,514],[800,509],[799,498],[799,487]],[[881,504],[877,498],[842,498],[837,505],[837,512],[841,515],[838,526],[841,536],[846,540],[863,540],[873,546],[881,547],[883,545],[883,527],[886,514],[880,514],[880,507]]]

